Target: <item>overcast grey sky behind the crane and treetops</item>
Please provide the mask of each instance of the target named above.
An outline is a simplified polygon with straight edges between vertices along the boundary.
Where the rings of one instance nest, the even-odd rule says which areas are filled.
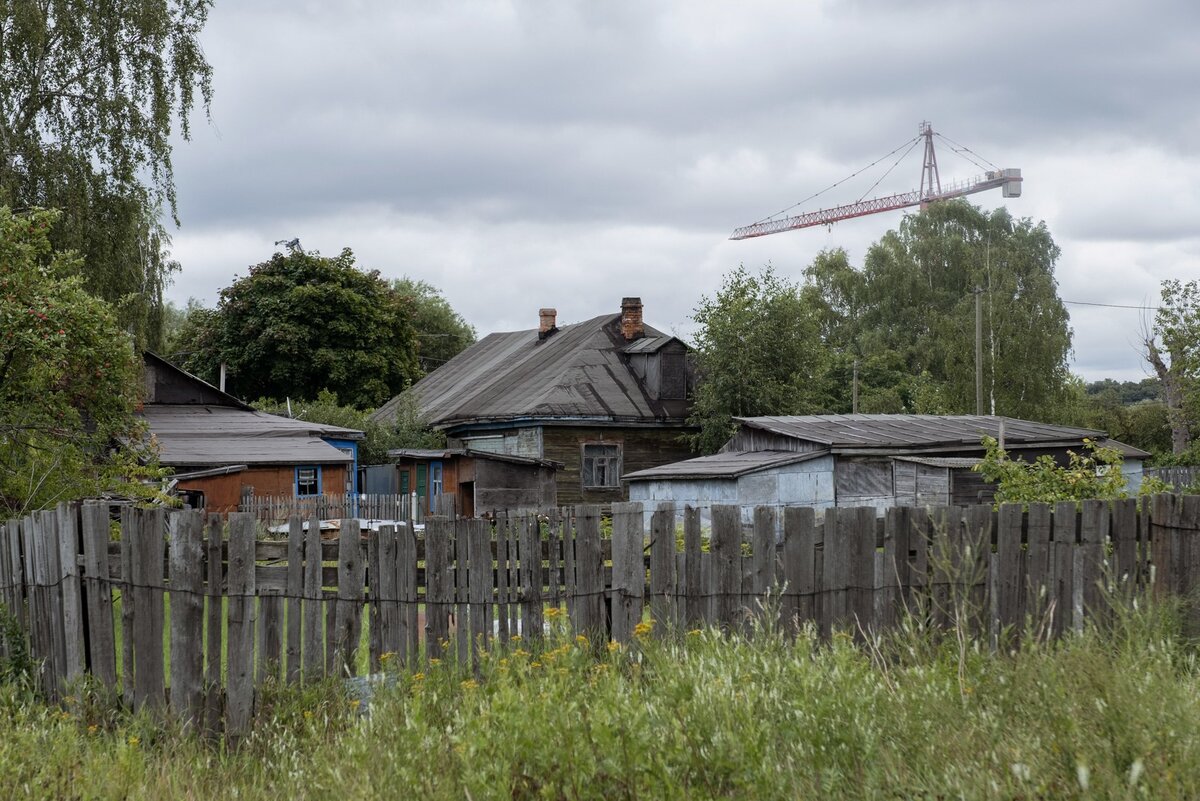
[[[480,336],[626,295],[688,336],[739,263],[860,265],[902,212],[727,237],[922,120],[1021,168],[1024,197],[972,201],[1045,221],[1064,300],[1153,305],[1200,277],[1195,0],[217,0],[202,40],[216,96],[175,147],[178,303],[299,237],[434,284]],[[979,171],[938,144],[943,182]],[[919,173],[918,150],[872,195]],[[1147,312],[1068,308],[1076,373],[1147,374]]]

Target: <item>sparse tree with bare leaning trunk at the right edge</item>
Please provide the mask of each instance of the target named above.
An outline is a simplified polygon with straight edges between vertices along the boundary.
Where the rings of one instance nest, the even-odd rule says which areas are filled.
[[[1171,452],[1182,456],[1200,416],[1200,281],[1163,282],[1154,325],[1142,344],[1163,386]]]

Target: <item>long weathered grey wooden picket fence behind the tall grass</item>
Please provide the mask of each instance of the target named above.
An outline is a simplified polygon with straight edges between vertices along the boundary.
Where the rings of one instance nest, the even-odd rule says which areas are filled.
[[[238,734],[269,679],[355,674],[364,627],[370,671],[472,664],[516,633],[528,648],[551,618],[629,643],[647,619],[664,634],[778,615],[829,637],[918,614],[997,642],[1027,621],[1078,630],[1109,592],[1190,595],[1200,577],[1200,496],[709,518],[703,531],[700,510],[661,506],[647,526],[617,504],[611,536],[581,506],[366,532],[344,519],[323,538],[294,517],[283,541],[250,513],[64,504],[0,525],[0,603],[48,697],[90,674],[130,707]]]

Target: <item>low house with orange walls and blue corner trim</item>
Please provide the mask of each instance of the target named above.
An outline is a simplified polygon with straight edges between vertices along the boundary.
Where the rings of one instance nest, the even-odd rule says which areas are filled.
[[[247,495],[358,492],[360,430],[258,411],[146,353],[140,416],[192,506],[238,511]]]

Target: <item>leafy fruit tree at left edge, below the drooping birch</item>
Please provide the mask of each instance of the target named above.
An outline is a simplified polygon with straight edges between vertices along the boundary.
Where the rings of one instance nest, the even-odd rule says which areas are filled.
[[[138,360],[110,305],[55,252],[58,215],[0,206],[0,508],[8,514],[113,487],[128,446]]]

